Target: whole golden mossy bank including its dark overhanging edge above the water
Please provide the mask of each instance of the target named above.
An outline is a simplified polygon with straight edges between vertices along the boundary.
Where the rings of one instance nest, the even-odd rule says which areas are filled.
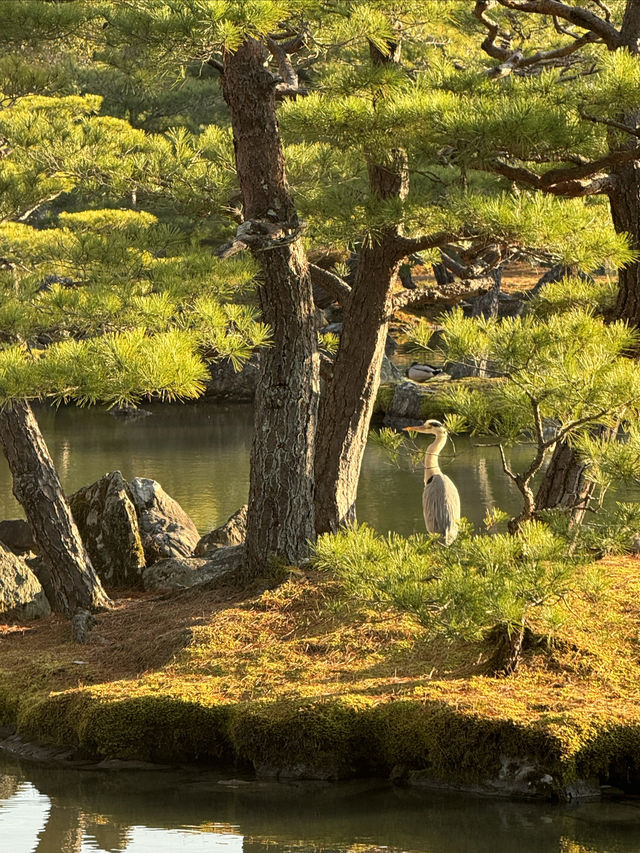
[[[117,600],[85,646],[58,617],[0,626],[0,725],[80,754],[235,762],[453,783],[505,756],[553,776],[640,779],[640,560],[608,558],[597,600],[508,678],[490,648],[429,640],[410,616],[292,571],[272,589]],[[395,768],[395,770],[394,770]]]

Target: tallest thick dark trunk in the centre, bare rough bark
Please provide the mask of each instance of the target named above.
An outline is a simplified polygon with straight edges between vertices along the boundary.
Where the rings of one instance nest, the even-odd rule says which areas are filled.
[[[275,81],[265,67],[266,57],[263,44],[248,39],[225,53],[223,74],[244,205],[242,235],[260,265],[260,306],[272,335],[260,356],[255,402],[247,579],[259,575],[271,557],[298,562],[315,538],[319,358],[313,294],[297,236],[300,226],[285,174]]]

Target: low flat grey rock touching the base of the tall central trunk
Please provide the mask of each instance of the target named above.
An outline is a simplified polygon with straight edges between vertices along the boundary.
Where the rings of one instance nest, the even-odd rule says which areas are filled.
[[[231,575],[242,565],[244,546],[219,548],[209,557],[173,557],[158,560],[146,568],[142,579],[145,589],[187,589],[197,584]]]

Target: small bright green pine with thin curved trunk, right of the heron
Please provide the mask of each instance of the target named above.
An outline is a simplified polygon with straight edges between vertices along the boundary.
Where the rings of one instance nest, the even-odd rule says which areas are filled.
[[[521,491],[517,524],[536,514],[531,481],[564,440],[591,463],[600,497],[613,480],[637,470],[640,366],[629,358],[638,334],[605,324],[592,310],[573,308],[544,320],[533,314],[502,320],[469,318],[458,309],[441,318],[446,358],[486,370],[495,381],[482,392],[460,387],[447,395],[451,411],[474,434],[493,436],[505,474]],[[426,324],[414,334],[428,347]],[[594,428],[602,434],[593,434]],[[616,433],[628,432],[619,444]],[[532,445],[529,463],[512,470],[503,445]],[[626,474],[624,472],[626,471]]]

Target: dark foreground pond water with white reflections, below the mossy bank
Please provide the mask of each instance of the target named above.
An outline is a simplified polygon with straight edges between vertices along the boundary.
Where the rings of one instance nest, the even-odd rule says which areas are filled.
[[[637,853],[640,802],[511,803],[379,781],[21,765],[0,752],[3,853]]]

